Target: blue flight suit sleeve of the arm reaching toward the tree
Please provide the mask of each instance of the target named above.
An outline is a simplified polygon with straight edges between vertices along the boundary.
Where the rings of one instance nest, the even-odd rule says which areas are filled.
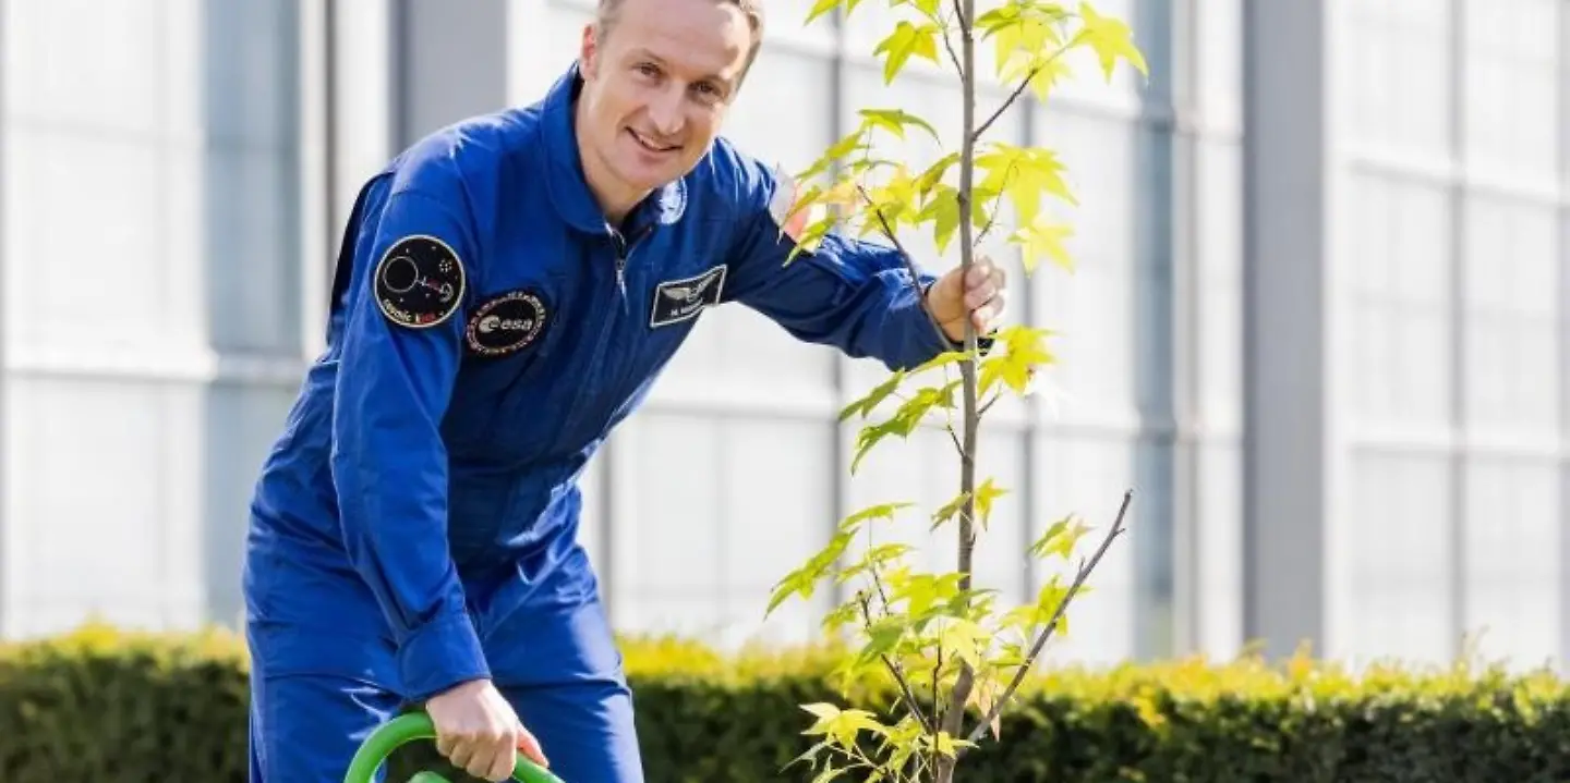
[[[794,185],[779,171],[744,168],[736,209],[739,246],[730,298],[769,317],[798,339],[832,345],[851,358],[912,369],[964,345],[940,336],[923,304],[936,275],[918,270],[917,286],[893,248],[827,234],[812,253],[798,253],[782,231]]]

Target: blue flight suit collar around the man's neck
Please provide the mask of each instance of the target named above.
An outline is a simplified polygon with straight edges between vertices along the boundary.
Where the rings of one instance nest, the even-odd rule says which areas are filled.
[[[582,157],[578,151],[578,138],[573,133],[575,104],[578,91],[582,88],[582,75],[575,61],[560,78],[551,85],[545,96],[542,121],[545,122],[545,147],[551,176],[546,184],[551,202],[570,226],[581,231],[604,234],[606,218],[600,204],[595,202],[584,177]],[[678,179],[650,193],[631,215],[622,229],[634,229],[655,224],[672,224],[686,210],[686,180]]]

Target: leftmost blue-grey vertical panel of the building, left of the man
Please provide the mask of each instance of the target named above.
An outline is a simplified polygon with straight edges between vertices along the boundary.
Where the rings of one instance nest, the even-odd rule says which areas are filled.
[[[201,234],[212,350],[220,366],[256,356],[287,366],[298,362],[305,328],[305,265],[298,262],[305,249],[298,206],[300,9],[295,3],[251,0],[209,0],[206,8],[203,124],[218,141],[203,157],[206,198],[193,218],[206,223]],[[257,169],[267,173],[261,180]],[[237,245],[267,249],[246,259],[237,256],[243,253]],[[253,308],[259,320],[243,330],[225,326]],[[294,378],[220,372],[195,395],[203,421],[199,464],[206,472],[201,574],[210,621],[232,623],[243,610],[239,574],[250,490],[295,388]]]

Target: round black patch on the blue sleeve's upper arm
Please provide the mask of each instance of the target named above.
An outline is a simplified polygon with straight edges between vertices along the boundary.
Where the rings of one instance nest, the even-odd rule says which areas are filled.
[[[377,306],[399,326],[430,328],[458,311],[465,282],[463,262],[446,242],[403,237],[377,262]]]

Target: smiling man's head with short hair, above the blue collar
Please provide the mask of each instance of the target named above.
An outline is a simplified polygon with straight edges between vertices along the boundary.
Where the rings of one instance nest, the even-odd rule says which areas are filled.
[[[746,66],[747,17],[717,0],[625,0],[584,30],[578,137],[586,165],[625,196],[692,169],[719,135]],[[595,160],[589,160],[595,158]]]

